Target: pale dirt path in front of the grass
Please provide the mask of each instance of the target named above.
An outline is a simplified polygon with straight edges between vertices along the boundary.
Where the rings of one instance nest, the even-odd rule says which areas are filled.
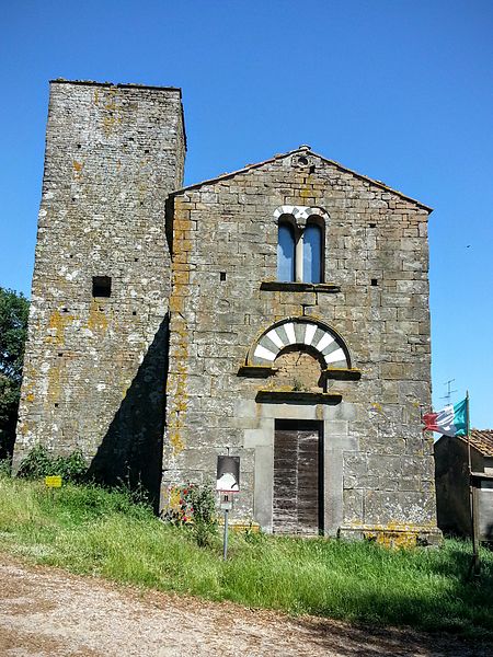
[[[123,588],[0,555],[2,657],[482,657],[448,636],[369,631],[230,603]]]

